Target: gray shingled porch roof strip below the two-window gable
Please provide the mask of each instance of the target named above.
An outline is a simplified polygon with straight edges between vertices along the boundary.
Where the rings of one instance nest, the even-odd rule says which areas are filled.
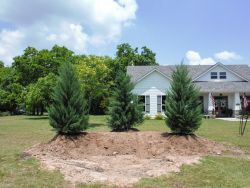
[[[249,82],[195,82],[201,92],[250,92]]]

